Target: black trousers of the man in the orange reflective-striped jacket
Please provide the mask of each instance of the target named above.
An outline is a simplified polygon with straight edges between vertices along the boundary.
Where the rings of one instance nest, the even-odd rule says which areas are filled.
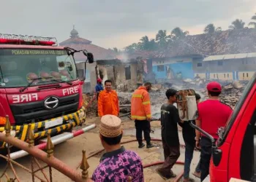
[[[150,138],[150,122],[147,120],[135,120],[135,128],[136,128],[136,138],[138,143],[142,143],[143,138],[142,138],[142,132],[144,133],[144,138],[147,144],[151,142]]]

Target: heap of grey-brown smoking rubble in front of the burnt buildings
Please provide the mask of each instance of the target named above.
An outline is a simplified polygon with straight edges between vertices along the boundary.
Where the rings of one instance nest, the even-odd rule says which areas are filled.
[[[170,80],[169,82],[162,82],[161,84],[154,84],[152,90],[150,92],[151,97],[151,106],[152,112],[157,114],[159,113],[159,108],[162,103],[166,102],[165,91],[168,88],[173,88],[176,90],[184,90],[184,89],[193,89],[195,92],[201,95],[201,100],[206,100],[208,98],[206,85],[208,82],[212,80],[206,79],[184,79],[184,80]],[[244,92],[246,84],[248,81],[236,81],[236,82],[227,82],[227,81],[219,81],[222,84],[222,94],[220,95],[220,100],[224,103],[227,103],[229,106],[234,107],[238,102],[239,98]],[[118,92],[119,106],[120,112],[123,114],[129,114],[131,107],[131,98],[132,92],[134,89],[127,90],[126,92]],[[91,100],[92,95],[86,95],[84,100]],[[89,102],[89,106],[87,108],[88,112],[94,113],[95,109],[97,109],[97,100],[94,100],[92,103]]]

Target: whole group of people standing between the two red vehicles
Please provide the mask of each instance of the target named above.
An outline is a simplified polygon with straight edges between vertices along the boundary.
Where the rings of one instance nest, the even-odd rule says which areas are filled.
[[[97,80],[101,84],[102,80]],[[129,151],[121,146],[123,130],[121,119],[118,118],[119,106],[118,95],[112,90],[111,80],[105,81],[105,90],[97,84],[98,114],[101,119],[99,125],[99,138],[105,148],[105,154],[100,159],[99,166],[89,181],[144,181],[143,165],[140,157],[134,151]],[[132,93],[131,119],[135,121],[136,138],[138,148],[142,149],[142,133],[146,141],[146,148],[155,145],[151,143],[151,103],[148,91],[151,83],[147,82]],[[218,82],[210,82],[207,85],[208,100],[200,102],[200,95],[195,94],[197,101],[198,117],[192,122],[202,130],[208,132],[217,141],[217,130],[225,127],[232,113],[232,108],[219,100],[222,87]],[[165,162],[156,172],[165,180],[176,177],[172,168],[180,157],[180,142],[178,137],[178,125],[182,127],[182,135],[185,143],[184,180],[193,181],[189,178],[190,165],[194,149],[200,149],[200,160],[193,175],[203,181],[209,174],[211,160],[211,140],[199,131],[195,130],[189,122],[182,121],[178,114],[178,108],[173,105],[177,102],[178,91],[168,89],[165,93],[167,101],[162,104],[161,110],[161,136]]]

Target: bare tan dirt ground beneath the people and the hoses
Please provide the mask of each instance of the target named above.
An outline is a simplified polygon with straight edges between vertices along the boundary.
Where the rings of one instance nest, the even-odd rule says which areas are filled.
[[[86,124],[99,124],[98,118],[91,118],[87,119]],[[160,124],[159,122],[151,122],[151,127],[154,128],[155,132],[151,133],[151,138],[160,138]],[[128,141],[131,139],[135,139],[135,129],[134,129],[134,122],[130,121],[129,119],[123,118],[123,128],[124,128],[124,137],[122,138],[122,141]],[[179,132],[181,144],[184,143],[181,132]],[[160,142],[153,142],[156,143],[159,147],[154,149],[138,149],[138,143],[132,142],[124,144],[126,149],[132,150],[137,152],[142,161],[143,165],[150,164],[152,162],[159,162],[163,160],[163,151],[162,151],[162,143]],[[89,132],[84,133],[83,135],[79,135],[76,138],[72,138],[69,141],[66,141],[64,143],[60,143],[59,145],[55,146],[54,149],[54,156],[60,159],[61,161],[65,162],[69,167],[72,167],[75,169],[78,167],[80,160],[82,159],[82,150],[86,150],[86,156],[89,156],[94,151],[98,151],[99,149],[102,149],[102,145],[99,141],[99,132],[98,129],[91,130]],[[90,165],[89,168],[89,176],[92,175],[93,171],[99,164],[99,158],[102,156],[103,152],[100,154],[97,154],[94,157],[91,157],[88,162]],[[28,167],[31,169],[31,163],[30,163],[30,157],[23,157],[21,159],[17,159],[16,162],[20,163],[21,165],[24,165],[25,167]],[[197,162],[199,160],[199,152],[195,151],[194,159],[192,160],[191,165],[191,171],[190,173],[193,173],[195,170],[195,167],[197,165]],[[184,162],[184,149],[181,148],[181,156],[179,157],[178,161]],[[41,165],[44,166],[44,164]],[[4,170],[5,165],[3,163],[0,164],[0,175]],[[183,170],[183,165],[175,165],[173,167],[173,172],[177,175],[180,174]],[[37,167],[34,167],[37,169]],[[145,181],[164,181],[162,178],[159,177],[157,173],[155,173],[155,169],[157,166],[154,167],[148,167],[144,169],[144,178]],[[21,169],[20,167],[15,166],[15,170],[17,171],[17,174],[20,178],[20,181],[32,181],[31,175],[27,173],[25,170]],[[8,175],[13,176],[10,169],[7,170]],[[78,168],[78,171],[81,172],[81,170]],[[48,174],[48,169],[45,169],[45,173]],[[42,173],[38,172],[38,175],[42,177]],[[200,181],[198,178],[195,178],[192,174],[190,175],[191,178],[194,178],[195,181]],[[4,179],[4,178],[2,178]],[[4,180],[2,180],[4,181]],[[39,181],[37,178],[35,181]],[[70,181],[67,177],[62,175],[56,170],[53,170],[53,181]],[[172,180],[170,180],[172,181]]]

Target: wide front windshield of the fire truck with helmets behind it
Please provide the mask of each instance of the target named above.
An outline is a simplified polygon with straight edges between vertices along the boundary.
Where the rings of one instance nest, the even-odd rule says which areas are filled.
[[[41,79],[37,79],[41,78]],[[26,87],[78,79],[67,50],[0,50],[0,87]]]

